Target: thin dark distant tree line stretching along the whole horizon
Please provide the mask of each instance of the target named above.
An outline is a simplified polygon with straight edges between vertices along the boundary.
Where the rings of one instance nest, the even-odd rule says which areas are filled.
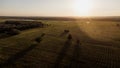
[[[53,21],[115,21],[120,22],[120,16],[110,16],[110,17],[89,17],[82,18],[82,17],[15,17],[15,16],[0,16],[0,19],[23,19],[23,20],[53,20]]]

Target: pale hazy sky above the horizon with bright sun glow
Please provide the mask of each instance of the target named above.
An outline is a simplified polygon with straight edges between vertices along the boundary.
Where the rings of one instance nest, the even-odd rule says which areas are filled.
[[[120,0],[0,0],[0,16],[120,16]]]

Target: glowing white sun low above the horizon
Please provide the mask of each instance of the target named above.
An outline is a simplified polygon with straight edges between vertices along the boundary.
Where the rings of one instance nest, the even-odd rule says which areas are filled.
[[[89,16],[93,7],[91,0],[74,0],[73,11],[77,16]]]

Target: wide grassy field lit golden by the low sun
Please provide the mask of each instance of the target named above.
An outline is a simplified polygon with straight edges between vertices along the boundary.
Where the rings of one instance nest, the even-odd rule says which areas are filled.
[[[120,68],[119,22],[39,21],[49,26],[0,39],[0,67]],[[37,43],[35,38],[43,33]]]

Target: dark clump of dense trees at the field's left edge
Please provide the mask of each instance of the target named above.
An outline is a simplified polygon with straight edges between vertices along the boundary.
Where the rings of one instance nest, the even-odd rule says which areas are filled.
[[[42,22],[37,21],[5,21],[0,23],[0,33],[16,35],[22,30],[43,26],[44,24]]]

